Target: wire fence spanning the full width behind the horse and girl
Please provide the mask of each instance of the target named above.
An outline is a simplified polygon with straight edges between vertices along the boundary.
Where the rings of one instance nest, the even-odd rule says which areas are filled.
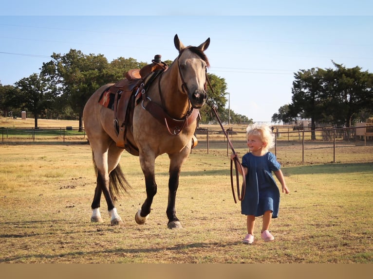
[[[360,129],[365,129],[362,133]],[[341,153],[352,151],[351,147],[373,147],[372,126],[350,128],[326,128],[317,130],[298,129],[292,126],[274,126],[275,147],[271,150],[277,157],[285,161],[305,162],[336,162]],[[246,126],[226,126],[225,130],[237,153],[246,153]],[[368,131],[368,132],[367,132]],[[0,127],[2,144],[88,144],[84,128],[55,127],[55,128],[16,128]],[[220,126],[200,125],[195,135],[198,139],[197,146],[191,153],[225,155],[232,151],[228,146],[224,132]],[[321,155],[315,154],[322,153]],[[360,152],[360,151],[359,151]],[[370,152],[362,150],[361,152]]]

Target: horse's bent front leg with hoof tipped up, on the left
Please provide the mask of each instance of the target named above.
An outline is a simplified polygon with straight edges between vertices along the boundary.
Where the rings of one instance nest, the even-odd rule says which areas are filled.
[[[157,193],[157,184],[155,183],[154,175],[154,162],[155,158],[150,156],[145,157],[144,155],[140,154],[140,165],[145,176],[147,198],[145,199],[141,209],[139,209],[135,215],[135,221],[139,225],[143,225],[147,221],[153,198]]]

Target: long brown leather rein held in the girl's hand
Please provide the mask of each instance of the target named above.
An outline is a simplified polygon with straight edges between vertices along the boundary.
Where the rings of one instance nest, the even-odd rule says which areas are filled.
[[[208,77],[207,77],[207,83],[208,83],[211,91],[214,92],[214,90],[212,89],[212,86],[211,86],[211,83],[210,83],[210,80],[208,79]],[[235,155],[234,158],[233,158],[233,160],[230,160],[230,184],[231,184],[231,187],[232,187],[232,194],[233,194],[234,202],[237,203],[236,194],[235,194],[235,190],[234,190],[234,183],[233,183],[233,163],[234,163],[235,170],[236,170],[236,187],[237,187],[237,196],[238,196],[238,200],[239,201],[242,201],[243,198],[244,198],[244,196],[245,196],[246,180],[245,180],[244,170],[243,170],[242,164],[240,163],[239,158],[237,157],[236,152],[234,151],[233,144],[230,141],[230,139],[228,137],[228,134],[226,133],[226,131],[224,129],[223,123],[221,122],[221,120],[219,118],[219,114],[218,114],[218,111],[216,109],[216,105],[210,105],[210,106],[211,106],[211,109],[212,109],[212,111],[214,112],[214,114],[216,116],[216,119],[218,120],[220,126],[222,127],[223,133],[224,133],[224,135],[225,135],[225,137],[226,137],[226,139],[228,141],[228,144],[230,146],[230,149],[232,150],[233,155]],[[239,179],[238,168],[241,168],[241,174],[242,174],[242,187],[241,187],[241,191],[240,191],[240,179]]]

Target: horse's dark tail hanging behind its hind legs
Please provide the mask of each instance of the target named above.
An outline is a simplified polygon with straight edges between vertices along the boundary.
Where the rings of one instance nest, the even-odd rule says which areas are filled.
[[[93,158],[94,172],[96,173],[96,177],[97,177],[98,169],[97,169],[96,162],[94,161],[93,152],[92,152],[92,158]],[[129,193],[129,190],[131,189],[131,185],[130,183],[128,183],[119,164],[109,174],[109,181],[110,181],[109,192],[113,199],[115,196],[120,197],[123,194],[123,192]]]

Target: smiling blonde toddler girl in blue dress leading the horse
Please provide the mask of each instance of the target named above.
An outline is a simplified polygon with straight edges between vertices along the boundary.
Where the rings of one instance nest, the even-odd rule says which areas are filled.
[[[289,193],[284,176],[280,170],[280,163],[276,156],[268,152],[275,142],[275,137],[269,126],[260,123],[249,125],[246,129],[249,153],[242,157],[242,166],[246,180],[246,189],[241,201],[241,213],[247,215],[247,235],[244,244],[254,242],[255,217],[263,215],[261,238],[265,242],[275,238],[269,232],[272,218],[277,218],[280,204],[280,191],[272,176],[272,172],[279,179],[282,192]],[[237,155],[231,155],[231,159]],[[238,168],[241,173],[241,168]]]

